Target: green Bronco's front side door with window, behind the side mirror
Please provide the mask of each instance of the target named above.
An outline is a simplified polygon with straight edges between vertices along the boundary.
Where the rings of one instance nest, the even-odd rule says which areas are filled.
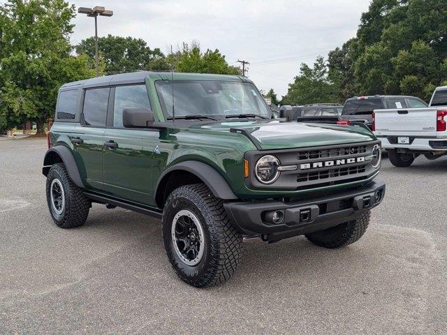
[[[126,107],[150,109],[145,84],[130,84],[112,88],[111,113],[104,133],[103,176],[110,195],[131,202],[154,205],[152,170],[154,155],[160,154],[159,131],[124,128],[122,112]],[[109,145],[109,144],[107,144]]]

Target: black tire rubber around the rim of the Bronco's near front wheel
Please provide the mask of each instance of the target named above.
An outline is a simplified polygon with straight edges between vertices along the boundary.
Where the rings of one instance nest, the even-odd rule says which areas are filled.
[[[189,266],[177,255],[172,225],[182,210],[193,213],[204,233],[204,253],[197,265]],[[214,197],[204,184],[176,188],[163,209],[163,241],[170,264],[185,283],[205,288],[227,281],[242,255],[242,235],[230,223],[221,199]]]

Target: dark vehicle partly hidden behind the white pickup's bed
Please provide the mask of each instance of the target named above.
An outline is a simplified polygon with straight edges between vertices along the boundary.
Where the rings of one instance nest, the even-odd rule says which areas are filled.
[[[427,103],[416,96],[358,96],[346,100],[340,119],[360,122],[371,128],[374,110],[423,107],[427,107]]]

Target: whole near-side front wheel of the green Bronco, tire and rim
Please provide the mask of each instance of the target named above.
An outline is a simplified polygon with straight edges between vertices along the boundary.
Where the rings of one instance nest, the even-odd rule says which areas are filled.
[[[205,288],[224,283],[234,273],[242,235],[207,186],[176,188],[166,200],[162,223],[166,253],[182,281]]]

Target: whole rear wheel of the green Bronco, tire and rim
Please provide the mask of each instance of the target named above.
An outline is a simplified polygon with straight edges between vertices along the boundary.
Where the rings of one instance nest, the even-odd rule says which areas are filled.
[[[87,221],[90,202],[68,177],[63,163],[52,165],[47,174],[46,189],[50,214],[59,227],[79,227]]]

